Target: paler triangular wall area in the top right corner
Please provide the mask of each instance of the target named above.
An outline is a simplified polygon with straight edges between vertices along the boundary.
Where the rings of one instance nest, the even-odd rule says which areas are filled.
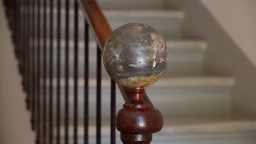
[[[256,66],[256,1],[200,1]]]

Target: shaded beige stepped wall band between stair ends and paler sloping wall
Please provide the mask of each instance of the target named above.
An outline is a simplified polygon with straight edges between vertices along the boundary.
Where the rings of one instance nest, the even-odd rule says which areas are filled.
[[[183,38],[207,41],[206,75],[232,75],[234,113],[256,114],[256,68],[200,0],[166,0],[166,7],[184,10]]]

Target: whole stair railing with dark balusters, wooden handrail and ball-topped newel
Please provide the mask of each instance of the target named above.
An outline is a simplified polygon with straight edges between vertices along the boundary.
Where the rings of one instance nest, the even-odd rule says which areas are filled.
[[[9,28],[12,33],[12,40],[15,46],[15,55],[19,60],[19,71],[22,76],[22,86],[26,92],[27,109],[31,111],[32,129],[36,131],[36,143],[69,143],[71,137],[69,135],[69,25],[71,5],[69,0],[62,5],[61,0],[56,1],[40,1],[40,0],[4,0],[5,13],[8,17]],[[74,117],[73,117],[73,142],[78,143],[78,39],[79,39],[79,17],[78,7],[82,9],[84,19],[84,143],[89,143],[89,28],[92,30],[95,39],[97,40],[97,85],[96,85],[96,143],[101,143],[101,57],[102,52],[109,48],[104,45],[108,39],[114,38],[112,29],[108,21],[104,17],[102,10],[95,0],[77,0],[74,1],[74,69],[73,69],[73,83],[74,83]],[[61,31],[61,7],[65,7],[65,30]],[[49,7],[49,9],[47,9]],[[54,11],[56,7],[56,11]],[[47,17],[49,13],[49,17]],[[54,17],[56,13],[56,17]],[[27,14],[27,15],[24,15]],[[40,17],[43,14],[43,17]],[[54,19],[56,18],[56,27],[54,27]],[[49,25],[49,28],[46,27]],[[140,25],[140,24],[136,24]],[[132,25],[130,25],[131,28]],[[142,25],[142,27],[150,27]],[[124,27],[123,27],[124,28]],[[156,36],[156,47],[166,50],[165,42],[161,35],[152,27],[150,31]],[[127,30],[127,29],[126,29]],[[145,30],[144,32],[149,32]],[[56,34],[56,63],[54,63],[54,34]],[[112,34],[111,37],[110,34]],[[61,35],[65,35],[65,109],[61,109]],[[147,35],[147,34],[146,34]],[[49,45],[46,37],[49,37]],[[146,40],[146,39],[145,39]],[[146,40],[147,41],[147,40]],[[41,43],[42,42],[42,43]],[[154,41],[153,41],[154,42]],[[110,43],[110,42],[109,42]],[[49,49],[47,49],[49,47]],[[138,50],[142,50],[139,47]],[[112,51],[114,52],[114,51]],[[148,53],[146,53],[149,55]],[[144,53],[143,56],[146,56]],[[152,53],[151,53],[152,54]],[[159,54],[159,51],[153,52],[153,55]],[[161,53],[162,55],[163,53]],[[104,56],[104,55],[103,55]],[[152,102],[145,93],[147,86],[159,79],[167,64],[167,51],[162,55],[162,65],[158,65],[157,73],[147,71],[148,76],[154,74],[155,77],[147,79],[145,82],[122,83],[118,75],[112,74],[111,70],[107,68],[108,73],[112,76],[111,80],[111,113],[110,113],[110,143],[115,143],[115,127],[121,132],[121,140],[123,143],[150,143],[152,141],[152,134],[161,130],[163,125],[163,118],[161,113],[154,109]],[[49,58],[47,63],[46,58]],[[103,57],[105,66],[108,63],[108,56]],[[133,57],[134,58],[134,57]],[[43,59],[42,64],[40,63]],[[154,59],[151,59],[150,64]],[[160,63],[161,63],[160,62]],[[164,64],[163,64],[164,63]],[[54,65],[56,64],[56,104],[54,103]],[[147,64],[147,63],[146,63]],[[117,65],[113,65],[117,66]],[[128,69],[128,68],[127,68]],[[141,69],[148,70],[148,69]],[[127,71],[126,71],[127,72]],[[143,71],[144,72],[144,71]],[[49,73],[49,75],[47,75]],[[132,75],[132,74],[131,74]],[[143,75],[143,74],[141,74]],[[138,75],[139,76],[139,75]],[[143,75],[144,76],[144,75]],[[46,81],[49,78],[49,91],[46,91]],[[127,77],[126,77],[127,78]],[[129,77],[128,77],[129,78]],[[149,78],[149,77],[148,77]],[[118,83],[121,94],[125,100],[124,109],[115,115],[115,82]],[[135,83],[137,83],[135,85]],[[46,105],[46,100],[49,100],[49,106]],[[48,107],[47,107],[48,106]],[[56,109],[53,112],[53,108]],[[61,112],[65,113],[65,130],[64,140],[61,137]],[[56,118],[56,119],[54,119]],[[117,122],[116,122],[117,120]],[[54,126],[56,127],[56,137],[54,137]]]

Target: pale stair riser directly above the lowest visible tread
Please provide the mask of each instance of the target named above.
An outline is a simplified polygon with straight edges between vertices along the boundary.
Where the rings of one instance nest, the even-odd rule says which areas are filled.
[[[70,81],[69,83],[73,83]],[[109,82],[110,83],[110,82]],[[64,106],[65,88],[61,88],[61,105]],[[231,112],[230,87],[149,87],[147,93],[164,116],[171,115],[201,115],[226,114]],[[73,88],[69,88],[69,117],[73,117]],[[84,88],[78,89],[79,117],[83,118]],[[90,117],[96,116],[96,88],[89,90]],[[56,103],[56,89],[54,88],[54,104]],[[117,110],[124,104],[119,90],[117,90]],[[110,87],[102,88],[102,117],[110,114]],[[64,118],[64,108],[61,117]],[[55,111],[54,111],[55,112]]]

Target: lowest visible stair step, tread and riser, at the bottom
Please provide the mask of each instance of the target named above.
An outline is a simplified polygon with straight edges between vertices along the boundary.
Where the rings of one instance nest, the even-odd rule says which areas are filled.
[[[56,127],[54,131],[56,130]],[[65,127],[60,127],[63,140]],[[84,127],[79,124],[79,142],[83,142]],[[102,142],[110,139],[110,120],[102,119]],[[120,141],[120,132],[116,130],[117,143]],[[56,135],[54,136],[56,137]],[[73,127],[69,125],[69,139],[73,137]],[[89,141],[95,142],[95,119],[90,119]],[[211,137],[211,139],[209,139]],[[256,117],[253,115],[201,115],[201,116],[173,116],[164,118],[164,127],[153,135],[152,143],[220,143],[233,142],[234,138],[241,143],[252,144],[256,140]],[[205,142],[207,140],[207,142]],[[72,141],[71,141],[72,142]],[[254,141],[255,142],[255,141]]]

